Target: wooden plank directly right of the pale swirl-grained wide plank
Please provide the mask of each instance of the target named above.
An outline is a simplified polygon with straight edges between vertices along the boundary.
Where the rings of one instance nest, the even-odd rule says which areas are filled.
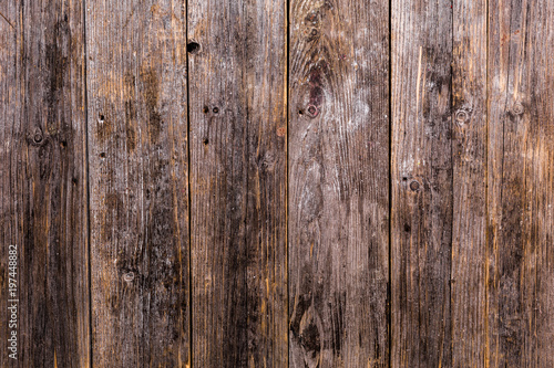
[[[452,6],[392,1],[392,367],[451,367]]]

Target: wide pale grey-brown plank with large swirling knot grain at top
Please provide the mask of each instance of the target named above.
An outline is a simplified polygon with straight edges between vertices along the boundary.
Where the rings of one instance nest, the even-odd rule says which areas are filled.
[[[290,2],[291,367],[388,365],[389,7]]]

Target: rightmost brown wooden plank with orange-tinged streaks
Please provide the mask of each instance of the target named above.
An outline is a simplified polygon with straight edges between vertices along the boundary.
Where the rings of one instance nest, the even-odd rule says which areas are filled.
[[[554,364],[550,1],[490,1],[490,367]]]

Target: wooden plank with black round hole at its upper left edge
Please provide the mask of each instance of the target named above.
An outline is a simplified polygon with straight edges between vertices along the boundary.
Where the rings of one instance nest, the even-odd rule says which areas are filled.
[[[286,2],[188,2],[195,367],[286,367]]]

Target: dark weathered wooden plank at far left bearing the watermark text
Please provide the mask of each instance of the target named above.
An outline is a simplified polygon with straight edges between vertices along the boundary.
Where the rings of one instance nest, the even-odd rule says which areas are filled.
[[[90,364],[80,1],[0,6],[2,367]],[[8,294],[9,245],[17,293]],[[19,299],[19,303],[9,302]],[[17,305],[10,328],[8,306]],[[17,358],[8,334],[17,330]]]

